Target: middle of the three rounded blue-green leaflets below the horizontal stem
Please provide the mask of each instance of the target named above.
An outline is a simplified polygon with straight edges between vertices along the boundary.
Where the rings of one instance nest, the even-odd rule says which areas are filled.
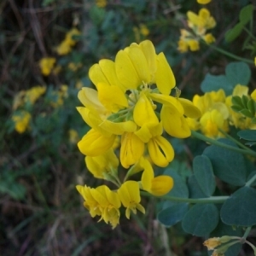
[[[218,224],[218,209],[213,204],[197,204],[183,218],[183,230],[194,236],[208,236]]]

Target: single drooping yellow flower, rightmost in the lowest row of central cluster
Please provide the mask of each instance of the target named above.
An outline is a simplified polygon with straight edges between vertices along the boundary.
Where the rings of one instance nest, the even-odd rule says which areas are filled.
[[[139,184],[135,181],[126,181],[118,189],[119,198],[126,208],[125,216],[130,218],[131,212],[137,213],[137,210],[145,213],[144,207],[140,204],[141,196]]]

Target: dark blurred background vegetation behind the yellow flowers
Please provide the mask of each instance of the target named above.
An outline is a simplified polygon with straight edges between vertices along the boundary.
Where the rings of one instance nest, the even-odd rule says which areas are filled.
[[[203,240],[185,234],[180,224],[161,225],[155,216],[157,201],[143,199],[146,214],[115,229],[97,223],[84,209],[76,184],[96,186],[86,170],[76,143],[88,127],[80,118],[77,93],[92,86],[90,66],[102,58],[113,59],[119,49],[145,38],[157,52],[164,51],[183,96],[202,94],[206,73],[223,74],[232,61],[207,45],[196,52],[177,51],[186,12],[197,13],[199,4],[186,0],[2,0],[0,3],[0,254],[1,255],[207,255]],[[216,44],[253,60],[241,47],[244,34],[232,44],[224,33],[238,21],[248,0],[215,1],[207,7],[217,21],[212,30]],[[76,27],[67,54],[58,47]],[[44,57],[55,58],[45,75]],[[253,68],[253,65],[251,66]],[[65,84],[63,86],[63,84]],[[14,107],[20,91],[44,86],[34,103]],[[66,86],[67,85],[67,86]],[[255,72],[250,81],[256,88]],[[21,104],[21,103],[20,103]],[[25,132],[15,131],[14,114],[26,111],[32,118]],[[172,167],[183,178],[204,143],[193,138],[172,142],[176,160]],[[227,193],[229,188],[227,187]],[[255,238],[249,238],[255,244]],[[245,246],[241,255],[249,254]]]

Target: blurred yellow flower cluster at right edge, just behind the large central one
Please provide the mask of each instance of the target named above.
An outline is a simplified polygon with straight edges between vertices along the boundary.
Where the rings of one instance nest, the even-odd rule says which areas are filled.
[[[248,87],[237,84],[230,96],[225,96],[222,89],[207,92],[203,96],[195,95],[193,103],[201,110],[202,115],[200,119],[187,119],[190,129],[201,130],[207,137],[212,138],[224,137],[221,131],[229,131],[230,125],[241,130],[255,129],[252,119],[231,108],[232,96],[248,96]],[[251,98],[256,101],[256,90],[251,94]]]

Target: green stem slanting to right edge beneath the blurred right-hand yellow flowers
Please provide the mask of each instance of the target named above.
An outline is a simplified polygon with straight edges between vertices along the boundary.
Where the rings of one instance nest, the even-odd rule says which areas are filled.
[[[256,152],[254,152],[252,150],[249,151],[249,150],[246,150],[246,149],[236,148],[236,147],[227,145],[225,143],[220,143],[217,140],[212,139],[210,137],[206,137],[206,136],[204,136],[201,133],[198,133],[196,131],[191,131],[191,134],[192,134],[192,136],[194,136],[194,137],[196,137],[196,138],[198,138],[198,139],[200,139],[200,140],[202,140],[206,143],[211,143],[211,144],[216,145],[218,147],[227,148],[227,149],[236,151],[236,152],[241,153],[241,154],[249,154],[249,155],[252,155],[252,156],[256,157]]]

